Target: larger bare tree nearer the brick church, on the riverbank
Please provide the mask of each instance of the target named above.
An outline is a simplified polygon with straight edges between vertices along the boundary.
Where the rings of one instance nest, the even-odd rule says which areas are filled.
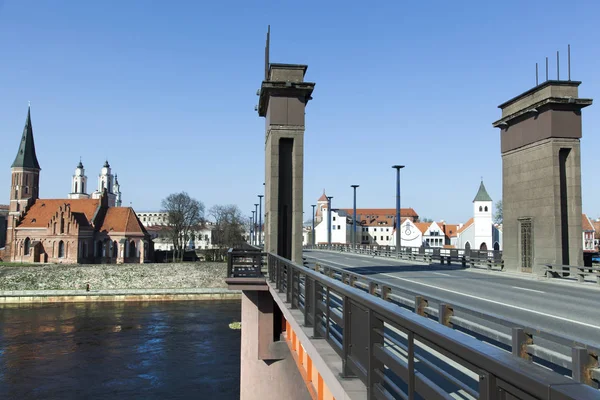
[[[183,260],[190,231],[204,222],[204,204],[186,192],[173,193],[162,201],[162,211],[168,213],[168,234],[173,243],[173,258],[178,254]]]

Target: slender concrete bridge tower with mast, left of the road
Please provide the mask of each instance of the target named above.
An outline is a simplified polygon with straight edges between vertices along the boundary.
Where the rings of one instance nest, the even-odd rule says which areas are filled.
[[[265,251],[302,264],[304,114],[314,83],[306,65],[269,63],[260,89],[258,115],[266,119]]]

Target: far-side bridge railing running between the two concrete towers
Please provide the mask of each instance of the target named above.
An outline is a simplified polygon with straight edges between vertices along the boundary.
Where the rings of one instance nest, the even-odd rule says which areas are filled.
[[[304,249],[310,250],[331,250],[340,252],[349,252],[378,257],[389,257],[396,259],[395,246],[372,246],[349,244],[332,244],[304,246]],[[445,249],[440,247],[401,247],[398,252],[400,260],[418,261],[426,264],[447,263],[460,264],[463,267],[504,269],[502,260],[502,251],[498,250],[470,250],[470,249]]]

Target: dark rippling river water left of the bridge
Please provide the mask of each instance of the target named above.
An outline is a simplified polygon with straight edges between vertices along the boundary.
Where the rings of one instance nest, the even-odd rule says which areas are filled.
[[[0,399],[239,399],[240,303],[0,306]]]

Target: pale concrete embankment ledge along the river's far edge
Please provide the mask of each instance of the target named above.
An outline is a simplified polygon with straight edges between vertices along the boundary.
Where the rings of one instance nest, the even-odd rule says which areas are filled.
[[[225,288],[115,290],[5,290],[0,304],[88,303],[114,301],[239,300],[241,292]]]

